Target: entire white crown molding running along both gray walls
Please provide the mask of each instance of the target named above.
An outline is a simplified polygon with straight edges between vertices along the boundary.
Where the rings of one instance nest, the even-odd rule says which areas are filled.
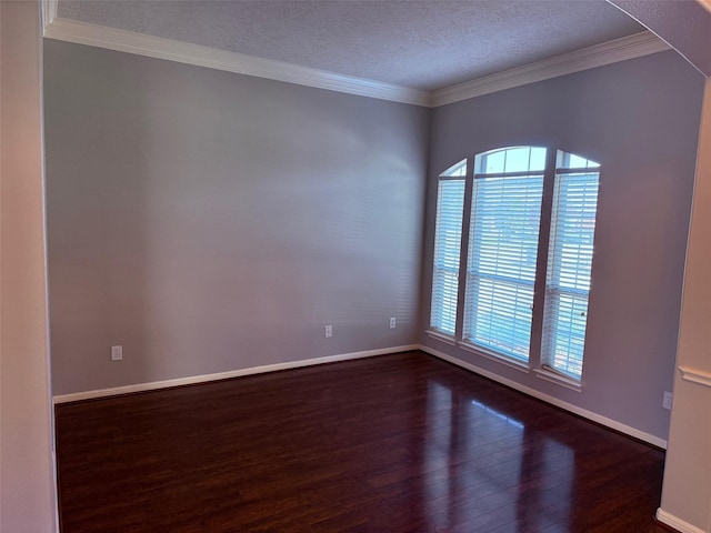
[[[653,33],[643,31],[437,91],[423,91],[243,53],[62,19],[57,17],[57,1],[42,0],[44,37],[48,39],[361,97],[433,108],[670,50],[670,47]]]

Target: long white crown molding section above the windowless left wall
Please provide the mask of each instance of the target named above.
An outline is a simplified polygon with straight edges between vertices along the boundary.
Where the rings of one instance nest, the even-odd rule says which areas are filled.
[[[52,0],[47,0],[52,3]],[[54,11],[56,12],[56,11]],[[201,47],[160,37],[117,30],[70,19],[53,18],[44,26],[44,37],[60,41],[88,44],[149,58],[224,70],[238,74],[286,81],[300,86],[378,98],[414,105],[430,105],[429,91],[337,74],[324,70],[299,67],[282,61],[257,58],[243,53]]]

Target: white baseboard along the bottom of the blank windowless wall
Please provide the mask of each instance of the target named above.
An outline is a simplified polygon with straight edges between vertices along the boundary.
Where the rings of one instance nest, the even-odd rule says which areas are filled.
[[[218,372],[214,374],[191,375],[174,380],[152,381],[149,383],[138,383],[134,385],[113,386],[110,389],[98,389],[94,391],[74,392],[71,394],[60,394],[53,398],[54,404],[78,402],[80,400],[92,400],[97,398],[116,396],[117,394],[129,394],[132,392],[154,391],[168,389],[170,386],[192,385],[194,383],[206,383],[208,381],[227,380],[240,378],[242,375],[262,374],[264,372],[276,372],[278,370],[299,369],[301,366],[312,366],[314,364],[334,363],[337,361],[349,361],[353,359],[372,358],[374,355],[385,355],[389,353],[407,352],[419,350],[419,344],[408,344],[404,346],[381,348],[378,350],[365,350],[363,352],[340,353],[326,358],[306,359],[302,361],[290,361],[288,363],[266,364],[263,366],[252,366],[249,369],[232,370],[229,372]]]

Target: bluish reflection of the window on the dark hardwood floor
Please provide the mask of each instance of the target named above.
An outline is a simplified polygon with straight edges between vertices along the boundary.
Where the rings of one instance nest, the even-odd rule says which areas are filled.
[[[574,451],[544,421],[431,381],[423,456],[428,531],[569,531]]]

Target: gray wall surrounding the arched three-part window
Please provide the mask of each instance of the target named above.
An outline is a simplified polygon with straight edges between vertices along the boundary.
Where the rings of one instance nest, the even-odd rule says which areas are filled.
[[[421,342],[667,439],[669,411],[661,403],[673,383],[702,91],[702,77],[674,52],[663,52],[435,109],[422,331],[440,172],[474,153],[533,144],[599,161],[602,173],[582,392],[424,334]],[[538,362],[537,353],[531,361]]]

